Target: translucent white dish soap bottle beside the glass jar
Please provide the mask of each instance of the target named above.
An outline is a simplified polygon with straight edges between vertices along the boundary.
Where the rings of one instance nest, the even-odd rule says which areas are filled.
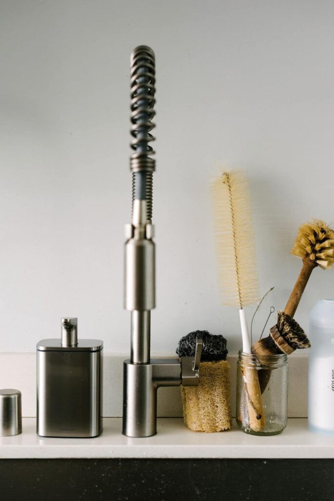
[[[308,426],[334,433],[334,299],[318,301],[309,316]]]

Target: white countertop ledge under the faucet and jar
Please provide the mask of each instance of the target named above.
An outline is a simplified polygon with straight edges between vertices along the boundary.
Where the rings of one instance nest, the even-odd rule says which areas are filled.
[[[159,418],[157,434],[128,438],[120,418],[104,418],[96,438],[41,438],[35,418],[23,418],[23,432],[0,437],[0,458],[334,458],[334,436],[307,429],[307,419],[291,418],[279,435],[229,431],[199,433],[180,418]]]

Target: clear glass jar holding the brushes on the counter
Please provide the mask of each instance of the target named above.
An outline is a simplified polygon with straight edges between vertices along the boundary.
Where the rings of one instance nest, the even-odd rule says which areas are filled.
[[[239,351],[236,423],[250,435],[277,435],[287,422],[287,356]]]

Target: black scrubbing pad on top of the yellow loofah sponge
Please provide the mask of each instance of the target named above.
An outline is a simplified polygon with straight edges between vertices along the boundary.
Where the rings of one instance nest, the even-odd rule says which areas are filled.
[[[193,357],[195,355],[196,338],[202,340],[202,362],[225,360],[227,355],[226,339],[219,334],[214,336],[207,331],[189,332],[183,336],[177,345],[176,353],[179,357]]]

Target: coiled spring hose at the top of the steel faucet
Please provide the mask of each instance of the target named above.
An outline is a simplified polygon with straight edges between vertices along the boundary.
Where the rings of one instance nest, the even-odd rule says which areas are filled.
[[[155,160],[150,142],[154,141],[150,131],[155,127],[152,118],[155,99],[155,57],[152,49],[139,46],[134,49],[130,60],[131,82],[131,148],[132,211],[134,199],[146,200],[147,220],[152,219],[152,184]]]

